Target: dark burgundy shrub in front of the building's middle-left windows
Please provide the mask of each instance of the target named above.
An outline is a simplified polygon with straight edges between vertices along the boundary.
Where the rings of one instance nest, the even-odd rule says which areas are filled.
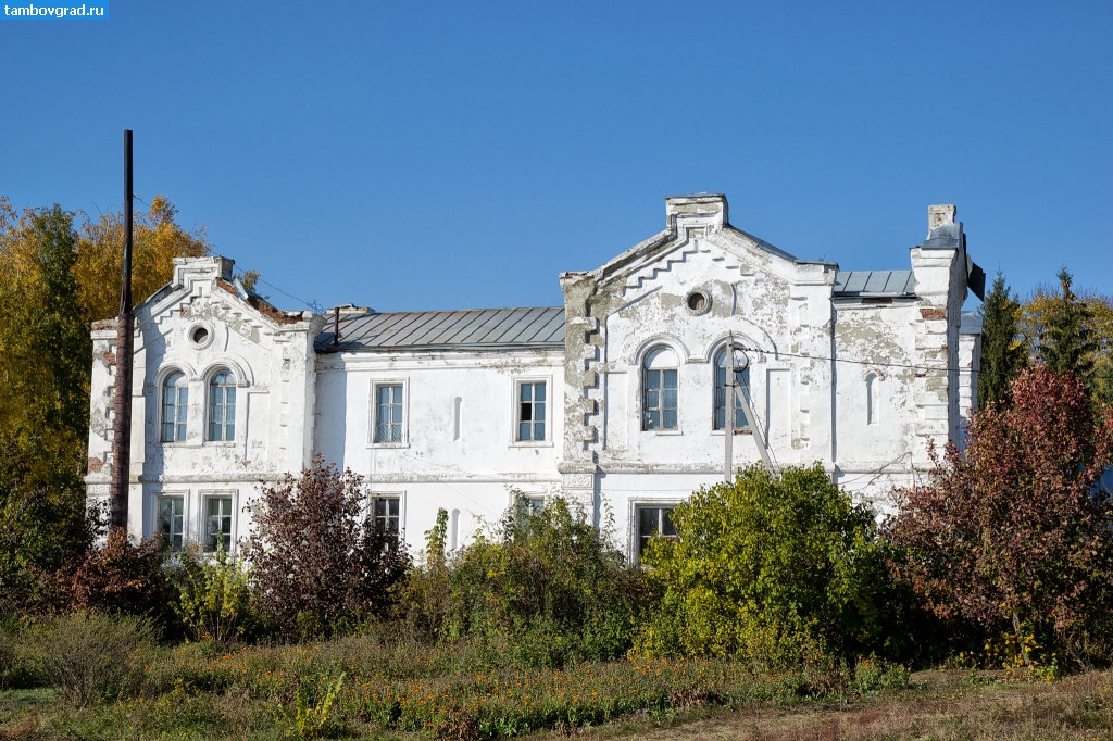
[[[263,487],[245,553],[259,611],[302,634],[382,614],[408,566],[396,534],[368,511],[363,477],[314,458]]]

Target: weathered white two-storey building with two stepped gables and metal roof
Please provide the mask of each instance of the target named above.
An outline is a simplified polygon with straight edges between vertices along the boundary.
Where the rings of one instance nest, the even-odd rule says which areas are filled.
[[[731,226],[722,196],[669,198],[663,231],[562,274],[564,305],[540,308],[283,312],[230,259],[176,260],[136,309],[129,528],[234,550],[258,482],[321,454],[414,546],[441,507],[455,546],[514,492],[561,494],[636,559],[722,481],[728,422],[735,466],[764,439],[775,465],[819,461],[884,507],[974,404],[962,306],[984,274],[954,217],[929,208],[906,269],[844,271]],[[86,481],[106,500],[115,320],[92,337]],[[725,386],[728,337],[757,435]]]

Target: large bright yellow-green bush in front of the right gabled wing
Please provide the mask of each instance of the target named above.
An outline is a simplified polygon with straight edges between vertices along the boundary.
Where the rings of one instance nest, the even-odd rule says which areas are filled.
[[[791,664],[871,645],[887,584],[873,513],[818,463],[761,466],[701,488],[672,513],[643,563],[662,593],[639,638],[649,654],[736,655]]]

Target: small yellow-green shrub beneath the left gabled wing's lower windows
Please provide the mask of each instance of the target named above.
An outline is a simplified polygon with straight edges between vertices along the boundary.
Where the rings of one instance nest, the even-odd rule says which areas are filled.
[[[211,557],[186,549],[171,581],[178,587],[175,610],[195,641],[226,643],[255,628],[247,574],[223,549]]]

